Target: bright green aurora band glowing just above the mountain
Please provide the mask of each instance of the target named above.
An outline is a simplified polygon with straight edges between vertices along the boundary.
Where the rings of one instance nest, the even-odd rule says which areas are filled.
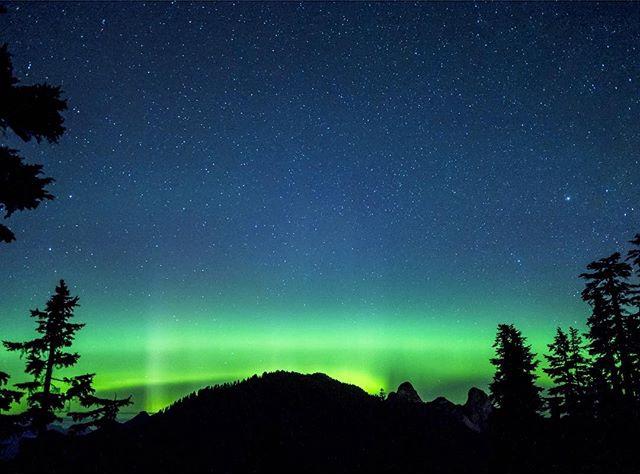
[[[493,329],[502,320],[475,311],[474,323],[458,314],[454,324],[442,323],[446,317],[414,315],[399,324],[380,315],[347,314],[253,320],[232,315],[209,322],[198,317],[194,323],[187,314],[174,315],[170,324],[162,315],[144,315],[123,327],[83,306],[77,317],[89,325],[77,340],[82,359],[74,372],[97,372],[96,387],[104,394],[133,394],[133,410],[157,411],[200,387],[280,369],[324,372],[370,393],[411,380],[426,399],[444,394],[463,401],[471,385],[486,388],[490,380]],[[535,349],[542,350],[553,325],[527,327],[531,316],[520,319]],[[0,330],[29,336],[26,324],[20,331],[4,325]],[[0,354],[0,364],[19,374],[22,361]]]

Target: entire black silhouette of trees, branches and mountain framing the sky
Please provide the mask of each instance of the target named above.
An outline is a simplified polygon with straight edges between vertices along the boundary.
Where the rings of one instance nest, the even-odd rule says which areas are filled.
[[[0,128],[22,141],[56,143],[65,129],[62,91],[22,85],[0,46]],[[5,219],[53,199],[53,178],[0,146]],[[15,234],[0,225],[0,241]],[[0,468],[72,472],[636,473],[640,430],[640,234],[625,254],[580,274],[586,332],[557,328],[544,361],[512,324],[500,324],[489,395],[464,405],[423,402],[410,383],[374,396],[323,374],[275,372],[204,388],[121,423],[128,398],[96,394],[96,374],[69,375],[79,298],[60,280],[35,335],[4,340],[26,382],[0,371]],[[89,302],[90,304],[90,302]],[[2,338],[10,335],[2,335]],[[553,385],[538,383],[546,373]],[[60,375],[60,374],[63,375]],[[72,410],[71,403],[80,410]],[[20,405],[23,403],[22,405]],[[20,411],[17,407],[24,407]],[[13,411],[12,411],[13,409]],[[53,429],[61,416],[73,424]]]

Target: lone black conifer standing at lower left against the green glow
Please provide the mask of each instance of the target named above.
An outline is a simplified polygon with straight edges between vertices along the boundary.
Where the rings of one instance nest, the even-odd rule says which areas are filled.
[[[65,402],[73,398],[82,400],[93,393],[93,374],[55,377],[55,370],[71,367],[80,358],[78,353],[67,350],[76,332],[84,327],[82,323],[71,322],[77,306],[78,297],[70,296],[67,285],[60,280],[45,310],[31,310],[31,317],[37,322],[36,332],[41,336],[25,342],[3,342],[8,350],[18,351],[26,358],[25,371],[33,380],[16,387],[28,392],[27,417],[38,431],[59,419],[56,412],[64,408]],[[69,386],[68,390],[63,390],[58,383]]]

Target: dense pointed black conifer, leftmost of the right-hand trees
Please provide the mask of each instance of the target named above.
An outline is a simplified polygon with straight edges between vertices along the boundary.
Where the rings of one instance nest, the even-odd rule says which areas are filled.
[[[512,422],[536,417],[542,408],[542,389],[536,385],[538,361],[531,346],[515,326],[500,324],[493,347],[496,372],[489,388],[498,412]]]

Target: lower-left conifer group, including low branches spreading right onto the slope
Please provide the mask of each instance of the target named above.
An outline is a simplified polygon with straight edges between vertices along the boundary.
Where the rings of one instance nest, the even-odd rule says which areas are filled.
[[[28,341],[3,341],[4,347],[17,352],[25,361],[27,382],[14,384],[9,389],[9,374],[0,372],[0,412],[26,397],[26,410],[22,413],[0,415],[0,433],[5,436],[23,431],[36,434],[47,430],[51,423],[62,421],[61,414],[73,420],[72,433],[100,428],[116,422],[120,408],[131,404],[128,398],[101,398],[93,387],[94,373],[69,375],[80,354],[71,347],[76,333],[84,327],[74,322],[78,297],[71,296],[63,280],[56,286],[44,310],[31,310],[37,337]],[[71,409],[75,402],[81,411]],[[1,437],[0,437],[1,439]]]

